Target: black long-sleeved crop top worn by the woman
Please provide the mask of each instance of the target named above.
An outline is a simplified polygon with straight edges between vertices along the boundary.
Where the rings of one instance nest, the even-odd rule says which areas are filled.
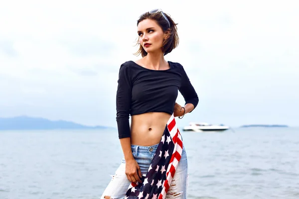
[[[150,70],[134,61],[121,65],[116,95],[119,138],[130,137],[129,115],[146,112],[173,113],[177,91],[185,104],[198,103],[197,94],[179,63],[168,61],[167,70]]]

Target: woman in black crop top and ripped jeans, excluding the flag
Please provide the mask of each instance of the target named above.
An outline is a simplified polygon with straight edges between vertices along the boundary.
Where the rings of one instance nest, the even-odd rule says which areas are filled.
[[[170,16],[155,9],[141,15],[137,27],[140,48],[136,54],[143,58],[121,65],[117,90],[116,118],[124,158],[101,199],[124,199],[130,184],[142,183],[170,116],[182,118],[198,103],[183,67],[164,59],[178,45],[176,24]],[[175,102],[178,91],[186,101],[183,107]],[[183,148],[166,198],[186,199],[186,184]]]

